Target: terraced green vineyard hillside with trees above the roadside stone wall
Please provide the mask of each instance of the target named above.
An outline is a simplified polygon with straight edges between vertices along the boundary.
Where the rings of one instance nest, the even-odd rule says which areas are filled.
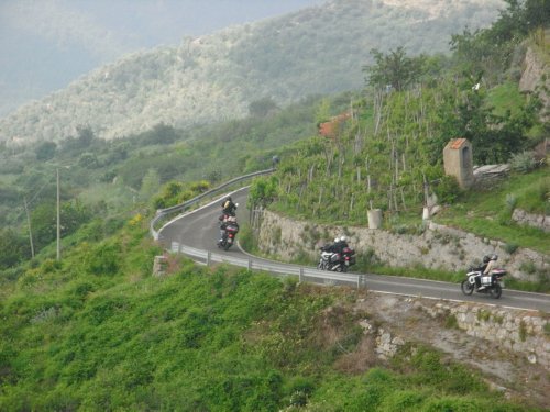
[[[449,59],[374,49],[375,64],[365,67],[371,89],[350,103],[348,119],[296,143],[275,176],[253,185],[251,202],[337,225],[365,225],[365,210],[377,208],[385,229],[409,233],[418,232],[421,208],[435,193],[443,205],[437,222],[504,241],[509,250],[548,254],[546,233],[512,221],[515,208],[538,214],[550,208],[547,155],[535,151],[548,122],[540,120],[540,101],[519,93],[513,76],[520,63],[513,57],[525,54],[529,33],[548,24],[535,10],[547,7],[508,1],[493,26],[454,35]],[[329,121],[339,111],[322,113]],[[475,165],[509,162],[512,176],[461,191],[442,165],[453,137],[472,143]]]

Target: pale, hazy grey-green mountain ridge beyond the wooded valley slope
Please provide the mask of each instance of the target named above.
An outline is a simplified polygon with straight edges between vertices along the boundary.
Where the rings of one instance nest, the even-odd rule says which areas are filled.
[[[334,0],[176,47],[129,55],[0,119],[0,141],[62,141],[79,126],[103,138],[155,124],[241,118],[255,101],[361,88],[370,51],[447,52],[450,35],[486,26],[501,0]]]

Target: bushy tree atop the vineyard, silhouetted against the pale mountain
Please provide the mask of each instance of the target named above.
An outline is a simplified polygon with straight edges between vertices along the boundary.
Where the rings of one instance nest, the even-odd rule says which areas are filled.
[[[391,86],[394,90],[404,90],[419,79],[422,73],[424,56],[407,57],[403,46],[384,55],[376,48],[371,51],[375,65],[364,66],[367,83],[377,88]]]

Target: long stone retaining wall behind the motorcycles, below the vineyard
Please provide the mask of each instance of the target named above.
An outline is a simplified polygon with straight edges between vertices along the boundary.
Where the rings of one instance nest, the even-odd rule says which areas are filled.
[[[496,253],[498,264],[518,279],[538,280],[550,269],[550,257],[531,249],[510,250],[506,244],[460,230],[427,223],[419,234],[398,234],[367,227],[338,227],[295,221],[264,211],[258,232],[263,253],[282,260],[319,257],[319,247],[345,234],[359,256],[369,254],[394,267],[421,265],[431,269],[465,270],[484,254]],[[507,250],[512,252],[508,253]]]

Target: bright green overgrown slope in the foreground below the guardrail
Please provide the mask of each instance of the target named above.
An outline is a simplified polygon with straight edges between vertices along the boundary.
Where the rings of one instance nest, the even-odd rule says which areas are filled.
[[[1,410],[536,410],[428,347],[348,370],[356,291],[177,256],[152,277],[145,223],[2,272]]]

